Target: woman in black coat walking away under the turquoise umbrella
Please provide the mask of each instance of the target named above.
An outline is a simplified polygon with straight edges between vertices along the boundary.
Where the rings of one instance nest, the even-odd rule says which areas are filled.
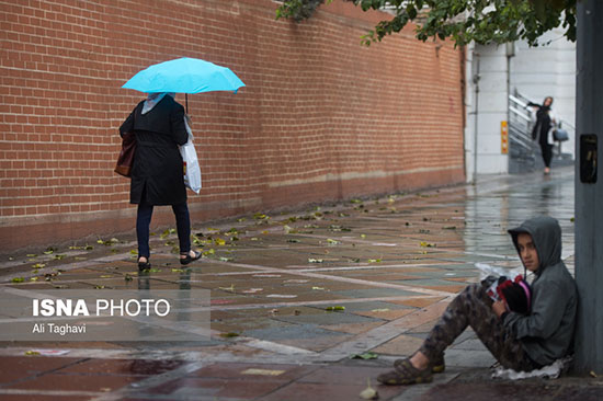
[[[189,140],[184,107],[173,93],[149,93],[120,127],[120,135],[135,133],[130,204],[137,204],[138,268],[150,268],[149,226],[155,206],[170,205],[175,216],[180,263],[201,257],[191,250],[191,219],[186,205],[182,157],[178,146]]]

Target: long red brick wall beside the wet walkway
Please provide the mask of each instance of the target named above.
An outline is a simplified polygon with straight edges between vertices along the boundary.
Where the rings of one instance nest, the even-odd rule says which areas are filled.
[[[342,1],[302,24],[275,21],[276,5],[0,1],[0,248],[134,227],[113,167],[117,127],[144,95],[121,85],[183,56],[247,84],[189,95],[194,221],[464,180],[459,50],[412,30],[363,47],[387,14]]]

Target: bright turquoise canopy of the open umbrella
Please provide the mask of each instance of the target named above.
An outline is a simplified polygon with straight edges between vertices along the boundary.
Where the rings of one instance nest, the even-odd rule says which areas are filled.
[[[152,65],[136,73],[122,88],[146,93],[237,93],[241,87],[244,83],[230,69],[198,58],[183,57]]]

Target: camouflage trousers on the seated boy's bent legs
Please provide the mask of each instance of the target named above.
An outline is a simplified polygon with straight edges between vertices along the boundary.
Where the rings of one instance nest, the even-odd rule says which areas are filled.
[[[475,331],[505,368],[530,371],[539,367],[530,359],[520,340],[492,311],[492,300],[480,284],[471,284],[456,296],[419,351],[430,360],[437,360],[467,326]]]

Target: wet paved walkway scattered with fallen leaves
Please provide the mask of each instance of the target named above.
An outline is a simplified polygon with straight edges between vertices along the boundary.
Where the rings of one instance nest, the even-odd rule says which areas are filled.
[[[0,399],[335,401],[360,400],[367,382],[380,400],[603,399],[596,377],[491,378],[494,359],[470,330],[448,348],[446,371],[432,383],[375,380],[413,353],[447,302],[479,279],[475,263],[519,267],[505,230],[543,214],[559,219],[562,257],[573,270],[573,168],[194,225],[204,257],[185,267],[173,230],[151,237],[146,273],[137,272],[132,236],[5,255],[0,289],[15,296],[207,290],[211,335],[5,341]]]

